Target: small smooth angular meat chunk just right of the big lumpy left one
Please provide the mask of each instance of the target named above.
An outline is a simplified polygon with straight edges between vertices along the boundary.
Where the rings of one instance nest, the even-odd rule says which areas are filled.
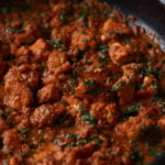
[[[38,103],[59,100],[61,96],[54,84],[48,84],[37,91]]]

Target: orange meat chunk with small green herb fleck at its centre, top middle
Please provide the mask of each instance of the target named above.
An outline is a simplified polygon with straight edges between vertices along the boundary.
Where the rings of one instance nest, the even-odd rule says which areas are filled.
[[[76,31],[72,36],[72,45],[79,50],[86,50],[87,47],[96,48],[96,41],[94,40],[95,33],[92,31],[79,32]]]

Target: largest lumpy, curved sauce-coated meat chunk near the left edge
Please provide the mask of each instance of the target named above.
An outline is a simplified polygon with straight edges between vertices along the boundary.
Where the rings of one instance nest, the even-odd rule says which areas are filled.
[[[22,65],[12,67],[4,77],[4,103],[21,110],[33,102],[31,88],[37,87],[38,73],[35,66]]]

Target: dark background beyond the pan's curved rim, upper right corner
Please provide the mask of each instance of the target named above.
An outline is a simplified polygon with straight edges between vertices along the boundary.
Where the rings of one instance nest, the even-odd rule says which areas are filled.
[[[158,0],[102,0],[114,4],[124,14],[133,14],[165,41],[165,6]]]

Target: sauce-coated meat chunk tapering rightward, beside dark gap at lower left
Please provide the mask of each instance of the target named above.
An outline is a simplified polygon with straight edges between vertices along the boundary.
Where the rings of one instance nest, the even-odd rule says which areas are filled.
[[[54,106],[42,105],[34,110],[34,113],[31,117],[31,122],[33,125],[51,127],[56,120],[64,113],[63,108],[55,108]]]

